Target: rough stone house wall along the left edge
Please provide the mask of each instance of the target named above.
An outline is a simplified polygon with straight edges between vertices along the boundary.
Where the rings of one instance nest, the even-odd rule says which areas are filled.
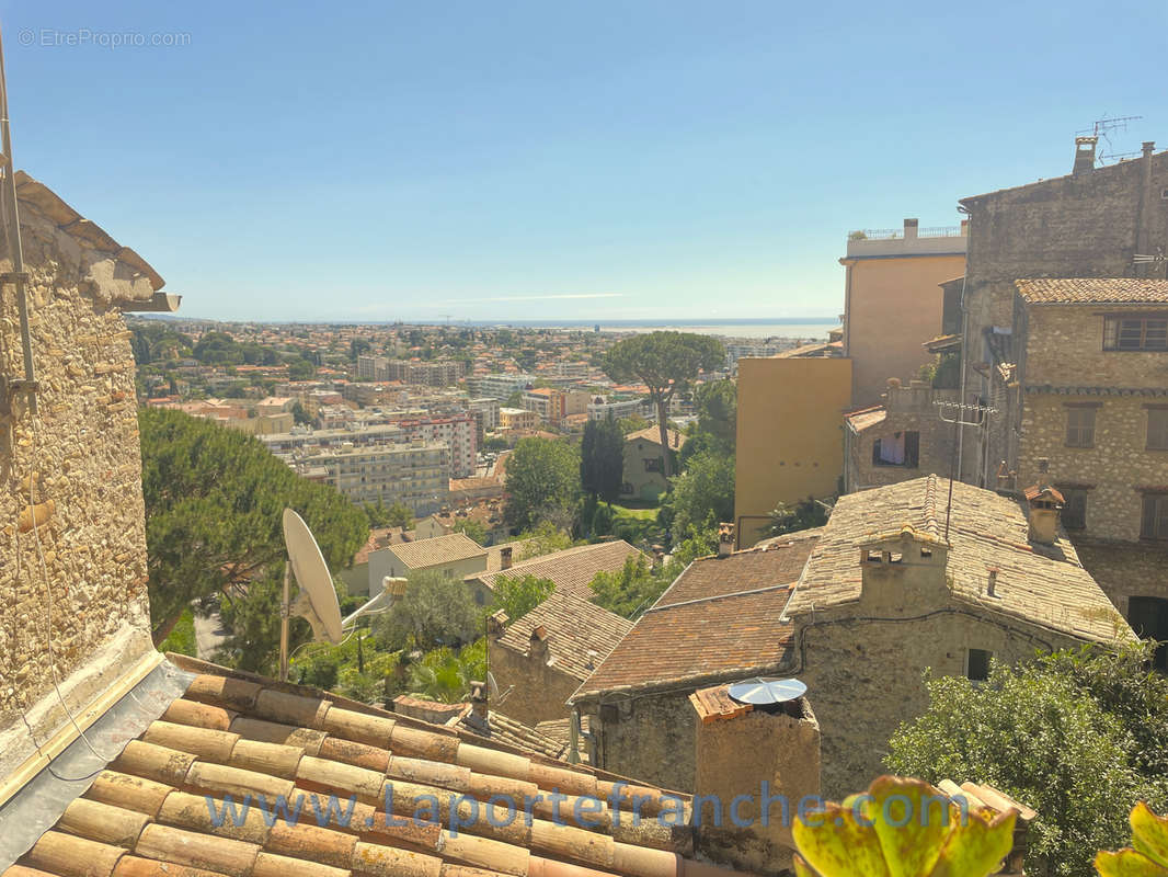
[[[18,184],[40,391],[37,416],[22,396],[0,416],[0,776],[33,752],[21,714],[40,741],[68,720],[55,684],[77,711],[152,649],[134,360],[119,308],[162,281],[44,186]],[[12,284],[0,296],[0,373],[23,377]]]

